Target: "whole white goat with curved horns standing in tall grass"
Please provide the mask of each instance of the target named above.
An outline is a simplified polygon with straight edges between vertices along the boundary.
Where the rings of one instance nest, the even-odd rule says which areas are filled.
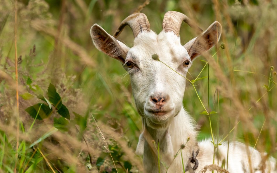
[[[160,160],[167,166],[170,165],[166,170],[165,166],[160,163],[162,173],[183,172],[181,155],[178,154],[174,159],[181,144],[186,144],[182,153],[183,163],[187,165],[188,172],[200,172],[203,167],[213,162],[213,144],[210,141],[197,143],[195,123],[182,106],[186,79],[179,74],[186,76],[195,57],[218,42],[222,28],[220,23],[215,21],[205,32],[182,46],[179,30],[183,21],[201,30],[195,27],[186,15],[169,11],[164,16],[163,30],[158,35],[150,30],[147,17],[143,13],[135,13],[127,17],[114,36],[109,35],[97,24],[94,24],[90,31],[96,48],[119,60],[130,74],[136,107],[142,117],[144,128],[139,137],[136,152],[143,154],[146,173],[158,172],[157,150],[153,148],[153,140],[155,144],[158,142],[160,144]],[[134,33],[132,48],[115,39],[126,25],[129,25]],[[156,58],[158,56],[162,62],[179,74],[154,60],[153,55]],[[250,159],[251,163],[248,164],[247,149],[250,152],[253,151],[253,148],[241,143],[230,144],[229,172],[263,172],[258,169],[262,162],[261,154],[254,150]],[[198,167],[197,163],[194,165],[191,163],[193,160],[189,160],[193,157],[192,155],[197,155],[195,162],[198,160]],[[226,158],[227,145],[223,144],[219,147],[219,155],[216,155],[215,162],[219,160],[221,166]],[[271,160],[273,161],[266,162],[265,170],[276,172],[274,159],[271,158]]]

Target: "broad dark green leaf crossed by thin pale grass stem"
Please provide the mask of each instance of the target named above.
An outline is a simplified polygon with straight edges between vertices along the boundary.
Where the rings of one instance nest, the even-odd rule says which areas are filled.
[[[41,106],[40,110],[39,107]],[[30,114],[31,117],[36,118],[37,113],[37,119],[42,120],[44,118],[48,118],[52,114],[52,109],[50,109],[46,104],[34,104],[33,106],[28,107],[25,109],[26,112]]]

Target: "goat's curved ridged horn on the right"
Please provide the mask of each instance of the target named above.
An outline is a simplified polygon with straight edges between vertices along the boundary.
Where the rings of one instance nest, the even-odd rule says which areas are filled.
[[[173,31],[177,36],[179,36],[181,24],[183,21],[186,22],[190,27],[203,32],[203,30],[195,25],[186,15],[177,11],[168,11],[165,13],[164,20],[162,21],[162,29],[165,32]]]

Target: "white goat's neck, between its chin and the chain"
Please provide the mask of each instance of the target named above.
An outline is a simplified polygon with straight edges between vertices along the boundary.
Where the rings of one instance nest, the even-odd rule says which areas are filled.
[[[152,161],[157,160],[154,159],[157,158],[157,150],[154,147],[153,140],[156,145],[159,142],[162,159],[164,162],[167,162],[167,164],[173,161],[174,155],[176,155],[180,149],[181,144],[185,145],[185,148],[182,150],[185,164],[188,158],[191,157],[192,151],[197,150],[197,132],[191,116],[189,116],[183,108],[179,114],[172,119],[172,122],[166,129],[157,130],[146,125],[143,133],[146,139],[143,152],[144,165],[149,164],[157,166],[157,161]],[[150,164],[150,162],[152,163]],[[172,166],[174,166],[174,162],[172,162],[172,164]]]

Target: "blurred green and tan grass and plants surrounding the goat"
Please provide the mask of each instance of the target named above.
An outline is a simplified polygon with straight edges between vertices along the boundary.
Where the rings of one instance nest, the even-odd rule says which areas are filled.
[[[222,24],[219,45],[189,70],[184,107],[215,150],[236,140],[277,157],[276,0],[0,3],[0,173],[142,172],[129,75],[89,35],[94,23],[113,34],[138,11],[157,33],[170,10],[202,29]],[[180,33],[197,36],[185,24]],[[132,35],[118,39],[131,47]]]

